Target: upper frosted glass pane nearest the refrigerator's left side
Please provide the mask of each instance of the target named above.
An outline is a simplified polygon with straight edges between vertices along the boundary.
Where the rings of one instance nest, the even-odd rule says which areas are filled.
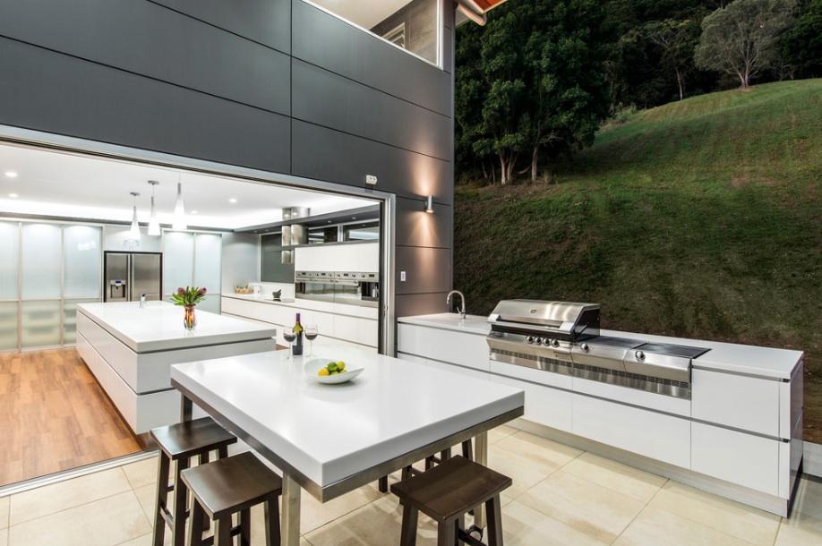
[[[100,293],[100,228],[65,226],[64,297],[98,298]]]

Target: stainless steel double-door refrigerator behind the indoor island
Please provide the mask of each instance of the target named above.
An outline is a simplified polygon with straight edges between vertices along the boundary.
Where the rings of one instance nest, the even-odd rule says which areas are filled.
[[[106,302],[139,302],[162,299],[162,252],[105,252],[103,272]]]

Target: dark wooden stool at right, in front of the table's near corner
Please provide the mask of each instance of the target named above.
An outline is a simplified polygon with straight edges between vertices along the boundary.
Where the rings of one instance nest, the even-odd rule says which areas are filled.
[[[419,512],[437,522],[437,546],[457,546],[458,541],[484,546],[466,533],[463,517],[485,503],[488,546],[502,546],[500,492],[511,479],[490,468],[452,456],[431,470],[391,485],[403,505],[400,546],[415,546]]]

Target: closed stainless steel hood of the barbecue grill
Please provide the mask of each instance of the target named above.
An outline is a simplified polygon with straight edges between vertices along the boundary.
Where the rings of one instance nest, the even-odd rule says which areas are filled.
[[[599,303],[502,300],[488,317],[492,331],[574,341],[599,335]]]

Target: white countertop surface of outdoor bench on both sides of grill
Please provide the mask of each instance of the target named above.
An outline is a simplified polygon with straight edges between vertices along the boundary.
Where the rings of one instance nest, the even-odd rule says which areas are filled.
[[[491,325],[486,322],[487,317],[467,315],[461,320],[457,313],[440,313],[433,315],[418,315],[415,317],[401,317],[398,322],[416,324],[432,328],[444,328],[455,331],[470,332],[487,336]],[[758,347],[722,343],[719,341],[705,341],[701,339],[687,339],[682,337],[654,336],[651,334],[637,334],[602,330],[601,335],[637,339],[639,341],[655,341],[681,346],[698,346],[710,349],[694,359],[694,368],[702,370],[730,371],[744,375],[755,375],[769,379],[790,380],[797,364],[802,360],[801,351],[777,349],[774,347]]]

